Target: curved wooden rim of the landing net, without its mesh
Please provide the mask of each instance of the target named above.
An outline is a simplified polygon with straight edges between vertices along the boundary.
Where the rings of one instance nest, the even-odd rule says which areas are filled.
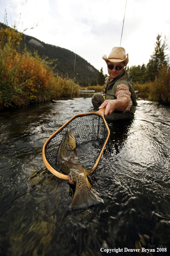
[[[100,161],[100,158],[103,154],[103,150],[104,148],[106,147],[106,143],[107,143],[107,140],[109,139],[109,136],[110,136],[110,130],[109,130],[109,127],[106,123],[106,120],[104,118],[104,112],[105,112],[105,107],[103,109],[100,109],[98,110],[97,112],[89,112],[89,113],[83,113],[83,114],[77,114],[76,116],[73,116],[69,121],[67,121],[64,125],[62,125],[57,131],[55,131],[55,133],[53,133],[45,142],[44,146],[43,146],[43,152],[42,152],[42,155],[43,155],[43,162],[44,164],[46,165],[47,169],[52,172],[53,175],[57,176],[58,178],[61,178],[61,179],[64,179],[64,180],[68,180],[68,175],[65,175],[65,174],[62,174],[61,172],[58,172],[56,171],[54,168],[52,168],[52,166],[49,164],[49,162],[47,161],[46,159],[46,155],[45,155],[45,148],[46,148],[46,145],[48,144],[48,142],[51,140],[52,137],[54,137],[59,131],[61,131],[62,128],[64,128],[71,120],[73,120],[74,118],[78,117],[78,116],[86,116],[86,115],[94,115],[94,114],[97,114],[97,115],[100,115],[102,116],[104,122],[105,122],[105,125],[106,125],[106,128],[108,130],[108,136],[106,138],[106,141],[105,141],[105,144],[100,152],[100,155],[94,165],[94,167],[92,168],[91,172],[88,173],[91,174],[92,172],[94,172],[94,170],[96,169],[99,161]]]

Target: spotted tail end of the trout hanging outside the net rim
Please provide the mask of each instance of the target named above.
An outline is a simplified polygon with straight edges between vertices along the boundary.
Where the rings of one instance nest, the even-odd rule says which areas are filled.
[[[77,175],[76,175],[77,176]],[[74,177],[75,179],[75,177]],[[94,190],[84,173],[80,173],[75,179],[76,191],[73,198],[73,209],[87,208],[103,202],[99,194]]]

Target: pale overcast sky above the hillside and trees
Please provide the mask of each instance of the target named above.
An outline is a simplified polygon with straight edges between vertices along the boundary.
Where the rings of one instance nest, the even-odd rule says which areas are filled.
[[[126,0],[0,0],[0,6],[0,22],[5,9],[9,25],[18,25],[21,13],[18,31],[38,23],[25,34],[71,50],[104,72],[102,56],[120,41],[129,66],[148,63],[158,33],[170,49],[170,0],[127,0],[127,6]]]

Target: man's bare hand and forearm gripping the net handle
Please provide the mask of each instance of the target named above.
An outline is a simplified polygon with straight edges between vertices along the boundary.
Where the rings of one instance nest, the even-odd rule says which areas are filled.
[[[116,100],[105,100],[99,109],[103,109],[106,107],[104,115],[110,115],[114,110],[125,110],[128,106],[128,99],[127,97],[121,97]]]

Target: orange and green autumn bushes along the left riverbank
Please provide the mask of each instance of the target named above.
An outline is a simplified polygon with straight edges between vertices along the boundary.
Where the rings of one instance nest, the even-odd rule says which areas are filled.
[[[79,85],[54,74],[46,60],[18,52],[21,36],[15,27],[0,28],[0,109],[70,96],[72,86],[77,95]]]

